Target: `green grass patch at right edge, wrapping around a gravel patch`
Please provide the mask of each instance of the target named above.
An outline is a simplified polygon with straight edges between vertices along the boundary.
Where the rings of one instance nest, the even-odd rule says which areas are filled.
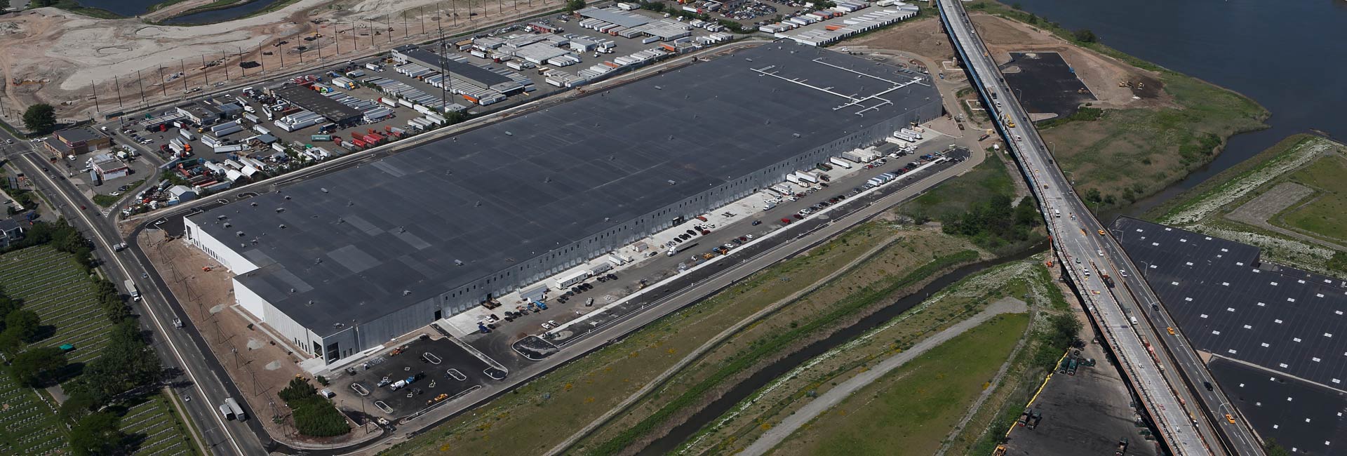
[[[1328,155],[1290,175],[1290,180],[1315,188],[1308,203],[1273,217],[1273,225],[1347,243],[1347,159]]]

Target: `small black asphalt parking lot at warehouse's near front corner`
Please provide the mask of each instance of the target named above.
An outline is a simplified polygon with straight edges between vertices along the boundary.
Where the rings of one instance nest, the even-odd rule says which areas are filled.
[[[403,418],[475,390],[501,371],[439,335],[334,370],[329,387],[348,412]],[[412,379],[407,382],[407,379]]]

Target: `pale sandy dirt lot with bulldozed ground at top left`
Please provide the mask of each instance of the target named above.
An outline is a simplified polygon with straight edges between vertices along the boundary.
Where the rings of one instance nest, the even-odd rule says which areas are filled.
[[[447,9],[435,11],[445,4],[458,8],[457,17]],[[180,98],[193,87],[206,90],[226,79],[230,83],[248,78],[260,81],[263,73],[283,74],[315,66],[319,55],[329,62],[345,61],[373,48],[426,40],[438,34],[435,20],[440,17],[445,19],[445,35],[450,36],[559,4],[558,0],[502,1],[498,5],[481,0],[300,0],[260,16],[193,27],[155,26],[140,19],[90,19],[57,8],[38,8],[0,19],[0,43],[5,48],[0,52],[0,71],[5,79],[0,102],[15,112],[34,102],[47,102],[57,106],[61,118],[86,118],[96,105],[92,97],[96,90],[102,113],[133,109],[140,106],[141,93],[145,102],[155,104]],[[311,34],[322,36],[303,40]],[[273,46],[280,40],[290,43]],[[307,48],[299,51],[296,46]],[[302,65],[300,59],[304,59]],[[221,65],[207,66],[217,61],[222,61]],[[245,61],[257,62],[260,67],[244,71],[238,63]],[[185,75],[172,78],[176,73]],[[114,82],[121,85],[120,94]],[[163,83],[168,87],[160,87]],[[15,122],[16,117],[8,120]]]

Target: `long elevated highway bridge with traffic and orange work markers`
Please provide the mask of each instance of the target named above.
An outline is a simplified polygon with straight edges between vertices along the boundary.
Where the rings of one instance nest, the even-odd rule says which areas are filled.
[[[1162,312],[1145,311],[1146,304],[1160,308],[1146,284],[1137,280],[1136,274],[1117,277],[1122,289],[1100,280],[1103,274],[1121,276],[1119,270],[1137,269],[1057,168],[1047,144],[977,35],[963,5],[942,0],[939,8],[946,31],[987,105],[993,122],[1039,198],[1065,276],[1076,284],[1088,313],[1103,328],[1110,350],[1118,356],[1125,377],[1141,398],[1164,444],[1175,455],[1259,455],[1261,448],[1242,422],[1231,424],[1224,420],[1223,413],[1218,420],[1211,412],[1211,404],[1218,404],[1219,408],[1219,404],[1227,402],[1220,391],[1199,391],[1187,381],[1193,378],[1200,385],[1204,378],[1210,379],[1210,373],[1193,359],[1192,350],[1168,346],[1180,343],[1180,338],[1164,338],[1156,331],[1161,324],[1152,324],[1152,317],[1164,321],[1165,327],[1173,324]],[[1098,276],[1092,277],[1091,269]],[[1160,352],[1153,350],[1152,342],[1160,346]],[[1203,402],[1199,404],[1195,398]]]

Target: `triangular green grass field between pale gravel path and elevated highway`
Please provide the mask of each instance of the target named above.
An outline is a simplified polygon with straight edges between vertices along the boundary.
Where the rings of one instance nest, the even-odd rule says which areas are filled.
[[[811,421],[773,455],[932,455],[1010,355],[1028,313],[993,317]]]

